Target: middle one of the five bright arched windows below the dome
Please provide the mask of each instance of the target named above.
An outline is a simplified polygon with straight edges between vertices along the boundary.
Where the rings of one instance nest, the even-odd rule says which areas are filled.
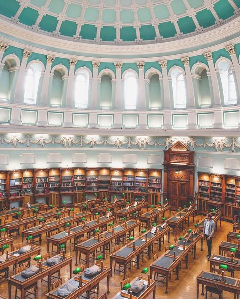
[[[124,107],[125,109],[137,108],[137,79],[134,72],[127,72],[124,76]]]

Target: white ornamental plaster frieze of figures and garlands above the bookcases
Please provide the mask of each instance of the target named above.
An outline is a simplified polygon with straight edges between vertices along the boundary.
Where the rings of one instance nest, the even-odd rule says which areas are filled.
[[[38,134],[39,135],[39,134]],[[138,148],[139,150],[146,150],[150,148],[159,148],[159,150],[167,150],[175,142],[181,141],[183,144],[189,146],[190,150],[195,151],[197,148],[213,149],[215,152],[235,152],[240,149],[240,138],[236,137],[109,137],[109,136],[72,136],[72,135],[40,135],[35,134],[2,134],[2,147],[12,146],[14,148],[20,147],[103,147],[103,148]],[[86,146],[85,146],[86,145]],[[1,148],[1,147],[0,147]]]

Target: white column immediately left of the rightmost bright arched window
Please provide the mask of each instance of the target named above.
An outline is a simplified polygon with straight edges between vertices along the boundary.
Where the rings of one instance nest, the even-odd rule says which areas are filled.
[[[213,64],[212,52],[204,53],[204,57],[208,61],[209,71],[211,75],[212,87],[213,87],[213,97],[214,97],[214,107],[221,107],[220,92],[218,86],[218,78],[216,70]]]

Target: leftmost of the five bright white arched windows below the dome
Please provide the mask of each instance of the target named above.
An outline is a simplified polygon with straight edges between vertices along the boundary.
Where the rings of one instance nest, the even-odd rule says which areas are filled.
[[[28,68],[24,85],[24,103],[36,104],[41,70],[39,63],[33,63]]]

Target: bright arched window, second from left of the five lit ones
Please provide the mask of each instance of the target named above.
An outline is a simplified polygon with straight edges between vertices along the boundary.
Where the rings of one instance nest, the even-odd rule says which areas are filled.
[[[89,73],[81,70],[77,73],[75,81],[75,107],[87,108],[88,105]]]

